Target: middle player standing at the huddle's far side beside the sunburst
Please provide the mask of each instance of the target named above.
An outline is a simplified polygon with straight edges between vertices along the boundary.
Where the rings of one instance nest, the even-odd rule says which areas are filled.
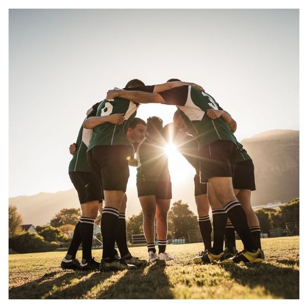
[[[166,253],[168,210],[170,208],[171,182],[168,157],[164,151],[163,121],[158,117],[147,119],[147,138],[137,149],[137,190],[143,212],[143,231],[147,241],[149,262],[173,260]],[[158,255],[155,248],[157,220]]]

